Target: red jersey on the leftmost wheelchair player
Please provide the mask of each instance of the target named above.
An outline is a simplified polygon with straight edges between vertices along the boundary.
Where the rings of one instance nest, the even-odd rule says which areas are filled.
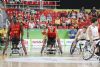
[[[10,25],[10,38],[17,37],[20,38],[20,23],[11,23]]]

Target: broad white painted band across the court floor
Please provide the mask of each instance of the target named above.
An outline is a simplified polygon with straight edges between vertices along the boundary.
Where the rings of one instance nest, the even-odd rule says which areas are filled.
[[[79,57],[23,57],[8,58],[7,62],[31,62],[31,63],[98,63],[97,59],[83,60]]]

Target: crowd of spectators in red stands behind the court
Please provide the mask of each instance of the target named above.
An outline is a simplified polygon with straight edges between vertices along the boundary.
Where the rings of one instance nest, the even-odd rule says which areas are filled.
[[[93,7],[90,10],[85,10],[82,7],[80,10],[24,10],[6,9],[9,21],[13,22],[16,19],[22,22],[24,28],[43,28],[49,24],[56,26],[59,29],[82,28],[91,24],[91,18],[97,17],[100,22],[100,11]]]

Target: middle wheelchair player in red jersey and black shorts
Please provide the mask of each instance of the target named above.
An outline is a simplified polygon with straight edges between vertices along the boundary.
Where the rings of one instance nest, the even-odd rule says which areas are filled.
[[[41,49],[41,54],[43,53],[43,50],[45,47],[49,48],[49,49],[47,49],[47,51],[49,51],[49,54],[53,54],[52,52],[56,51],[56,41],[58,43],[60,53],[62,54],[60,39],[58,37],[58,33],[57,33],[56,28],[52,25],[49,25],[48,29],[47,30],[44,29],[42,34],[43,34],[43,46]],[[55,48],[55,49],[53,50],[53,48]]]

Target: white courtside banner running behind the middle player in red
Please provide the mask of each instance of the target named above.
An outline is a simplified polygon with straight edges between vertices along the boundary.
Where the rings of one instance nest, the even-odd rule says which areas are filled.
[[[73,39],[60,39],[63,50],[68,50],[71,46]],[[58,44],[58,43],[56,43]],[[33,49],[41,49],[43,45],[43,39],[24,39],[24,45],[28,49],[28,52]]]

